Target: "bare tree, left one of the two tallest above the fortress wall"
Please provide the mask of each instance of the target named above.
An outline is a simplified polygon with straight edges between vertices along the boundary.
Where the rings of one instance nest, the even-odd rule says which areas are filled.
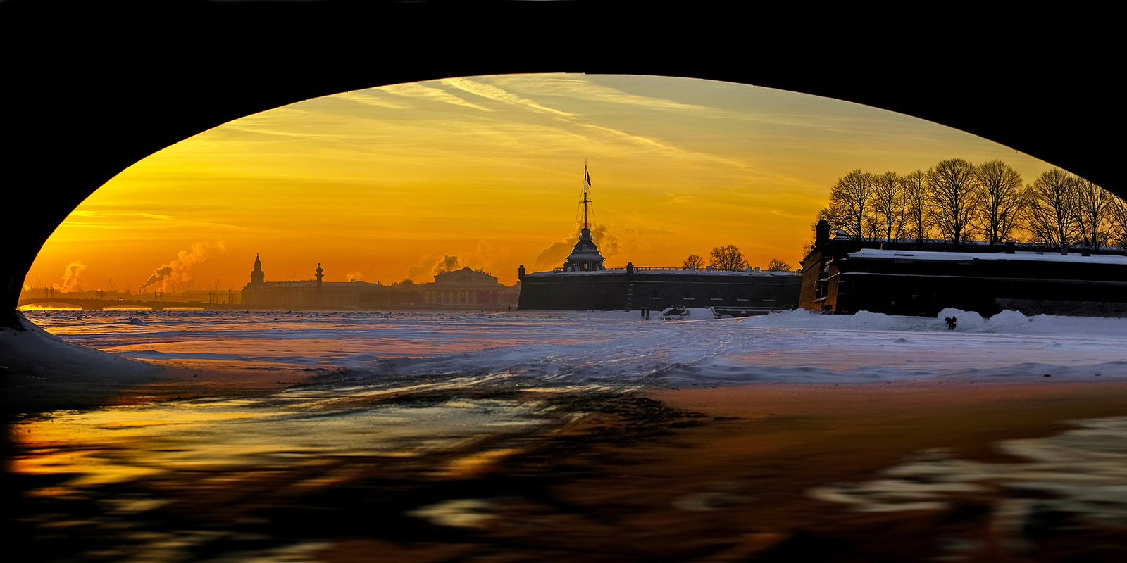
[[[956,250],[968,234],[979,199],[975,166],[970,162],[950,159],[928,170],[929,215]]]

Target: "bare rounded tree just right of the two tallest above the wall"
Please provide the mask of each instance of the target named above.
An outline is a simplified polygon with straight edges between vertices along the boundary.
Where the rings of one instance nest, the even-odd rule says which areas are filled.
[[[1072,242],[1076,224],[1076,182],[1072,175],[1054,168],[1041,172],[1026,188],[1029,198],[1028,226],[1033,238],[1051,245]]]

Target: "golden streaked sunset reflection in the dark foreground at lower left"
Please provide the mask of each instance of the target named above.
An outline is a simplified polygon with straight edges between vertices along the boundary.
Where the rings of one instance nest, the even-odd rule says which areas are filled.
[[[55,412],[15,426],[14,436],[26,455],[14,468],[71,475],[65,488],[80,489],[169,472],[268,470],[341,456],[418,456],[474,449],[490,437],[534,429],[549,421],[552,410],[535,393],[372,404],[381,394],[409,390],[371,391],[303,390],[261,400]],[[444,472],[470,472],[508,452],[477,452],[451,462]],[[51,492],[60,492],[59,486]]]

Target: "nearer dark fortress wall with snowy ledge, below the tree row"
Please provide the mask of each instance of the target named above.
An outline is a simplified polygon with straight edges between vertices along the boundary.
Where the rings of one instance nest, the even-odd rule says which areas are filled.
[[[994,252],[988,243],[975,241],[958,252],[913,245],[858,243],[844,233],[831,239],[829,225],[819,222],[814,248],[801,262],[799,305],[844,314],[933,316],[955,307],[983,316],[1004,310],[1027,315],[1127,315],[1124,256],[1012,241]]]

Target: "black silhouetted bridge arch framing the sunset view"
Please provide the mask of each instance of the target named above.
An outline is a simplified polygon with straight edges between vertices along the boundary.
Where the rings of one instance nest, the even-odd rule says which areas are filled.
[[[134,162],[269,108],[437,78],[660,74],[814,93],[960,128],[1127,196],[1121,143],[1108,138],[1124,125],[1112,84],[1121,53],[1104,33],[1113,18],[898,12],[889,25],[868,14],[815,21],[809,10],[712,9],[0,3],[8,54],[0,324],[16,323],[24,277],[54,229]],[[37,205],[17,215],[14,199],[27,196]]]

